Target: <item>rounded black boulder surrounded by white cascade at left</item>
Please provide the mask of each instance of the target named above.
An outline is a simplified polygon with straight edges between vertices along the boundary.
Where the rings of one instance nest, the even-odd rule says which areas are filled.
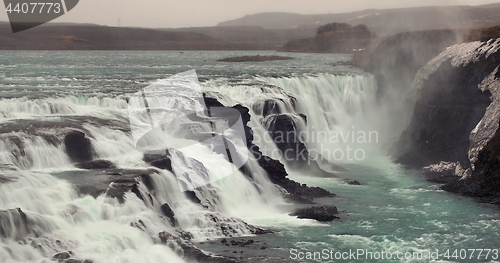
[[[92,160],[92,144],[85,133],[71,131],[64,137],[66,153],[73,162],[88,162]]]

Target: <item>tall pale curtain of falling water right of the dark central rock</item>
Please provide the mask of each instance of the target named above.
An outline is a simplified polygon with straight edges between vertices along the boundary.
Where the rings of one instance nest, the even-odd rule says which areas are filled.
[[[379,118],[371,118],[377,110],[373,76],[324,74],[262,80],[296,94],[296,111],[307,116],[303,140],[310,151],[316,150],[329,162],[362,161],[369,150],[364,144],[379,142],[375,121]]]

